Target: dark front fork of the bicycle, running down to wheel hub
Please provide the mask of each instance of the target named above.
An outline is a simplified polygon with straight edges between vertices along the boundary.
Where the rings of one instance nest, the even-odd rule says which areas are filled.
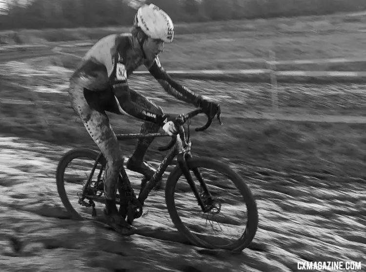
[[[213,208],[214,199],[209,192],[206,183],[203,180],[203,177],[201,175],[200,169],[193,168],[193,173],[200,182],[201,188],[203,189],[203,193],[199,193],[198,189],[196,187],[196,184],[193,181],[192,175],[189,171],[189,167],[187,165],[187,160],[189,160],[192,157],[192,155],[189,152],[182,152],[178,154],[177,161],[179,167],[181,167],[184,177],[186,178],[189,186],[191,187],[198,204],[200,205],[202,211],[204,213],[209,212]]]

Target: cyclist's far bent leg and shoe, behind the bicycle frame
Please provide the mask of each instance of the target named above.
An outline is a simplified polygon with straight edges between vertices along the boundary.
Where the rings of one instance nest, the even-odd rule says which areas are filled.
[[[162,107],[156,105],[140,93],[131,90],[131,96],[136,103],[144,106],[149,111],[155,114],[163,114]],[[152,122],[144,122],[141,126],[140,133],[155,133],[158,132],[160,126],[152,123]],[[142,138],[137,140],[137,146],[135,151],[133,152],[130,160],[127,163],[127,168],[131,170],[137,170],[142,173],[148,179],[154,174],[155,169],[149,167],[147,164],[143,162],[143,158],[145,156],[147,148],[154,141],[154,138]]]

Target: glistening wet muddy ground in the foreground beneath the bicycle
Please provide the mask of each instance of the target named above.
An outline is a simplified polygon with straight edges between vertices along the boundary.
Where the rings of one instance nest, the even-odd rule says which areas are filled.
[[[232,165],[246,177],[260,214],[254,243],[234,254],[176,243],[182,238],[169,222],[163,191],[151,193],[146,203],[150,215],[137,219],[140,232],[131,237],[121,237],[92,221],[69,220],[54,173],[70,147],[14,137],[1,137],[0,147],[0,265],[4,271],[290,272],[297,271],[297,261],[304,260],[352,260],[365,265],[366,185],[362,180]],[[137,176],[132,177],[138,183]],[[19,252],[14,251],[14,240],[20,241]]]

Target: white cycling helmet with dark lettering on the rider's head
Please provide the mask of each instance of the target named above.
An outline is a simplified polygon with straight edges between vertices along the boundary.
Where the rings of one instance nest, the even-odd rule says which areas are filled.
[[[136,13],[134,26],[140,27],[147,37],[173,42],[174,26],[170,17],[154,4],[143,5]]]

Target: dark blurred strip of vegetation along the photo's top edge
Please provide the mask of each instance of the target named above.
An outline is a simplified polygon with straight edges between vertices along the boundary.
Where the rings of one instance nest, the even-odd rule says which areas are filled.
[[[154,0],[174,22],[362,11],[363,0]],[[143,0],[1,0],[0,29],[129,25]]]

